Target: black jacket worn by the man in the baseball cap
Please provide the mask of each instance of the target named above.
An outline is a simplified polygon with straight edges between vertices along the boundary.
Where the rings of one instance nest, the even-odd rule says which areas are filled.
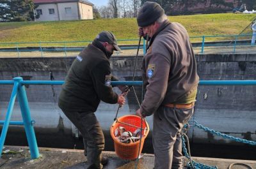
[[[62,85],[59,107],[70,112],[95,112],[100,100],[117,103],[118,94],[112,91],[111,78],[106,51],[88,45],[68,71],[65,84]]]

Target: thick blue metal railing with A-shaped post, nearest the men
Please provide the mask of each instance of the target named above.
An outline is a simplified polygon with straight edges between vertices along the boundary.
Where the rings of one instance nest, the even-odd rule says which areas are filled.
[[[4,121],[0,121],[0,124],[3,124],[0,137],[0,156],[3,151],[8,126],[24,125],[31,152],[31,158],[35,159],[39,157],[40,154],[36,143],[35,131],[33,129],[33,124],[35,121],[31,120],[31,113],[29,110],[28,98],[26,96],[24,85],[62,85],[63,83],[63,80],[23,80],[21,77],[15,77],[13,80],[0,80],[0,84],[2,85],[13,85],[12,95],[10,97],[10,102],[6,112],[6,118]],[[111,83],[113,85],[142,85],[141,81],[115,81]],[[256,85],[256,80],[200,80],[199,85]],[[19,100],[23,121],[10,121],[16,97],[18,97]]]

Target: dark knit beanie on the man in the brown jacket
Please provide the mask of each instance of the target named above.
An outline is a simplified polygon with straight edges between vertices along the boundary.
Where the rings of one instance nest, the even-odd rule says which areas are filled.
[[[159,4],[147,1],[143,4],[138,13],[138,26],[149,26],[156,22],[157,18],[161,17],[162,15],[164,15],[164,10]]]

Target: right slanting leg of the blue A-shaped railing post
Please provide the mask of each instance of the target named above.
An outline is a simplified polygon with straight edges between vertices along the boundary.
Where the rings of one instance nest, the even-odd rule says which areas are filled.
[[[19,82],[22,82],[22,78],[20,77],[16,77],[14,79],[19,80]],[[21,84],[19,85],[18,99],[19,99],[20,110],[21,110],[22,119],[24,122],[25,131],[26,131],[26,136],[28,140],[28,145],[31,153],[31,158],[32,159],[39,158],[40,154],[39,154],[38,146],[36,143],[35,131],[31,121],[28,98],[26,95],[25,87],[24,85],[21,85]]]

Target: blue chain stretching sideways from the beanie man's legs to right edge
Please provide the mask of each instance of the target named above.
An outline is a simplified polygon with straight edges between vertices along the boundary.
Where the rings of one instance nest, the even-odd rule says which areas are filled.
[[[245,139],[242,139],[242,138],[237,138],[237,137],[234,137],[234,136],[229,136],[229,135],[220,133],[219,131],[215,131],[214,129],[206,128],[202,124],[197,124],[196,121],[191,121],[191,122],[195,123],[194,126],[200,128],[200,129],[204,129],[204,131],[212,133],[214,135],[222,136],[223,138],[227,138],[227,139],[233,140],[235,142],[241,142],[241,143],[248,143],[250,145],[256,145],[256,142],[248,141],[248,140],[245,140]]]

